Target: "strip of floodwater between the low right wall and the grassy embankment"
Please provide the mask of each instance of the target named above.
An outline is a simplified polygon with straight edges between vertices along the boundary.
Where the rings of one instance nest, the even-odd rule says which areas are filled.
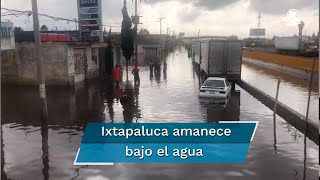
[[[242,65],[242,79],[272,97],[276,97],[278,78],[281,79],[279,101],[306,116],[309,95],[308,81],[249,63]],[[315,74],[314,76],[319,76]],[[319,124],[318,80],[312,83],[309,119]]]

